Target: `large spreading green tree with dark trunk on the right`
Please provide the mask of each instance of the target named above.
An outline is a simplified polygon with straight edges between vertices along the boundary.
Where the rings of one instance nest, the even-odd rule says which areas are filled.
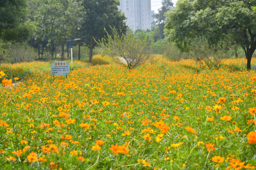
[[[207,39],[209,45],[240,45],[250,69],[256,50],[255,5],[250,0],[179,0],[167,14],[165,34],[183,51],[198,38]]]

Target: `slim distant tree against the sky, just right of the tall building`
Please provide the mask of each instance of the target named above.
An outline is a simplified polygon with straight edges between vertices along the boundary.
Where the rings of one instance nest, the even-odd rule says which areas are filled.
[[[155,28],[155,40],[165,38],[164,28],[165,28],[165,13],[172,10],[174,3],[172,0],[163,0],[162,7],[158,9],[158,13],[154,15],[156,28]]]

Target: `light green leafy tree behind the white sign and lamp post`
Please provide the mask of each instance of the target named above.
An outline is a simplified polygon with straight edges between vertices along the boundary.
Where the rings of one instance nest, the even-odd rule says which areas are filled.
[[[77,35],[77,29],[82,25],[84,15],[80,0],[34,0],[35,9],[30,11],[35,15],[37,24],[36,39],[42,43],[42,52],[48,44],[53,56],[55,46],[61,45],[61,59],[64,59],[64,45],[70,37]],[[73,37],[74,38],[74,37]],[[39,46],[40,47],[40,46]]]

